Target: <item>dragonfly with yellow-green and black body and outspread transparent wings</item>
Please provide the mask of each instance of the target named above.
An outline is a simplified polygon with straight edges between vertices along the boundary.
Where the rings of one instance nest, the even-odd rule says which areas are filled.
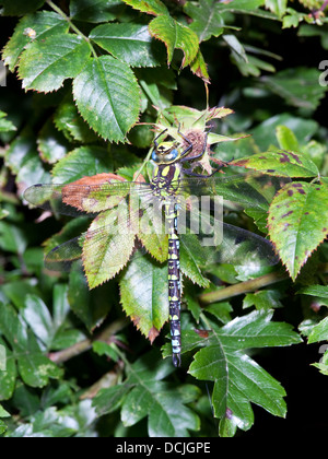
[[[116,275],[136,250],[156,257],[152,247],[160,246],[165,254],[160,261],[167,258],[168,319],[175,367],[181,365],[180,249],[197,251],[203,266],[236,263],[258,268],[279,261],[268,239],[225,223],[221,203],[223,197],[227,202],[265,212],[282,186],[280,178],[249,172],[233,176],[218,174],[229,166],[224,162],[212,174],[195,173],[192,166],[204,155],[210,130],[204,132],[203,148],[197,154],[192,154],[194,144],[180,131],[180,126],[177,129],[180,141],[166,140],[166,130],[156,136],[149,183],[99,174],[67,185],[37,184],[24,193],[30,203],[55,213],[94,219],[85,233],[55,247],[45,258],[46,267],[58,271],[70,269],[82,257],[91,287]],[[218,205],[213,205],[214,198]],[[131,205],[131,201],[137,204]],[[200,201],[206,202],[204,210]],[[122,250],[127,252],[125,260],[120,260],[119,244],[129,246]],[[87,252],[102,251],[106,251],[102,262],[87,260]]]

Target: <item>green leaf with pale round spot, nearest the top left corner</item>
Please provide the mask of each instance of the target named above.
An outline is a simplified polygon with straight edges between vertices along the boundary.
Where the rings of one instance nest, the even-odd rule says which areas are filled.
[[[40,11],[22,17],[13,36],[3,48],[2,58],[9,70],[13,72],[24,49],[35,39],[45,39],[52,35],[65,34],[69,24],[59,14]]]

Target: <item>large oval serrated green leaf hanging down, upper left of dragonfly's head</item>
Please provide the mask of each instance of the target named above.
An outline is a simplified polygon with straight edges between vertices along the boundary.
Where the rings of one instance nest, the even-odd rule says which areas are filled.
[[[124,142],[138,120],[139,86],[130,68],[110,56],[90,60],[74,80],[77,106],[104,139]]]

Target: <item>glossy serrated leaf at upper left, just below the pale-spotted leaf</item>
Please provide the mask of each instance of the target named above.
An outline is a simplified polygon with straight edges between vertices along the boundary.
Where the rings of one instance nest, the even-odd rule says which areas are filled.
[[[90,57],[89,44],[73,34],[58,34],[34,42],[23,52],[19,75],[25,90],[57,91],[77,76]]]

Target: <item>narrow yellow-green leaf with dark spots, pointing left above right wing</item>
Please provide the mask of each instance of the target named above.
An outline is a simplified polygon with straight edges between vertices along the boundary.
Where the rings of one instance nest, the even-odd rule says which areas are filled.
[[[233,161],[231,164],[277,176],[316,177],[319,174],[316,164],[309,157],[300,152],[286,150],[257,153]]]

